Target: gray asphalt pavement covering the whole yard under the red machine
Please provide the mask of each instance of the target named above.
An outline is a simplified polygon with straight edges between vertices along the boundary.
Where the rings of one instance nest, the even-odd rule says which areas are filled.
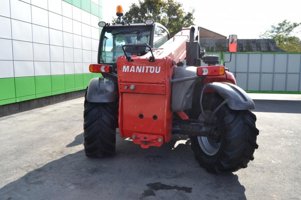
[[[0,199],[300,199],[301,95],[250,94],[255,159],[229,174],[200,168],[186,136],[142,149],[117,132],[116,155],[87,158],[77,98],[0,118]]]

